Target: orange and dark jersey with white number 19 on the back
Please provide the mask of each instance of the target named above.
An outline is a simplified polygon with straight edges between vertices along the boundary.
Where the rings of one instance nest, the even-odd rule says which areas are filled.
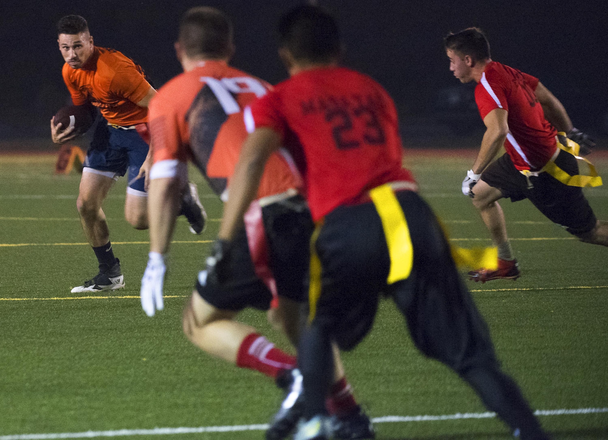
[[[269,88],[224,61],[201,61],[195,69],[168,81],[150,102],[154,163],[190,159],[221,194],[247,137],[246,124],[253,123],[248,106]],[[266,163],[257,198],[300,185],[286,158],[274,153]]]

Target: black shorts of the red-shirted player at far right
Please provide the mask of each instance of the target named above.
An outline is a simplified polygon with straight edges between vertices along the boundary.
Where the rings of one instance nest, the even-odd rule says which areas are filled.
[[[579,174],[578,163],[570,153],[560,150],[555,163],[570,176]],[[498,188],[511,202],[529,199],[548,219],[573,235],[587,233],[595,227],[597,219],[581,188],[564,185],[550,174],[541,173],[530,176],[533,188],[528,189],[526,177],[506,153],[483,171],[481,180]]]

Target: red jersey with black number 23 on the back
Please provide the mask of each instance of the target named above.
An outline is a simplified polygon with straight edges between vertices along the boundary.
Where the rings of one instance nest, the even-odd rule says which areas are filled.
[[[317,220],[387,182],[413,182],[401,165],[395,105],[366,75],[344,67],[300,72],[252,106],[255,126],[297,139],[294,157]]]

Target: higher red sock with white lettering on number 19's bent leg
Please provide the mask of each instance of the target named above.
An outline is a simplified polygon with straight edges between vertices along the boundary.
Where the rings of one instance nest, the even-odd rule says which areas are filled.
[[[251,333],[238,348],[237,366],[277,377],[279,371],[295,367],[295,356],[275,348],[274,344],[262,335]]]

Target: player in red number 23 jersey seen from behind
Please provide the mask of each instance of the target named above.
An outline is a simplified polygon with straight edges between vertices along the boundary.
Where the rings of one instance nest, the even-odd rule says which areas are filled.
[[[331,342],[352,349],[361,341],[380,292],[393,297],[424,354],[457,371],[520,438],[546,439],[519,388],[500,370],[441,227],[402,169],[392,99],[371,78],[337,66],[339,34],[323,9],[297,7],[283,16],[279,34],[291,78],[252,106],[255,131],[243,145],[218,239],[235,239],[264,163],[289,145],[301,158],[317,224],[309,325],[298,349],[305,417],[294,439],[330,438],[324,401],[334,368]],[[216,257],[212,269],[221,272],[224,261]]]

